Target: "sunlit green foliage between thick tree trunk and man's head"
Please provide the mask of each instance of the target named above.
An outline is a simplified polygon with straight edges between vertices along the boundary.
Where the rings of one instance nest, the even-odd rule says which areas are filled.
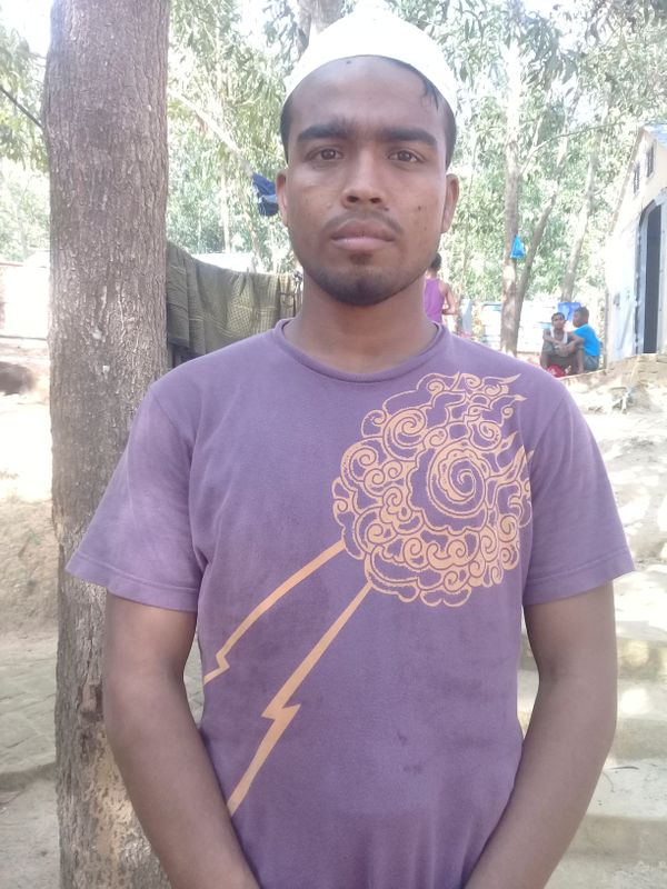
[[[251,252],[259,268],[282,269],[287,236],[257,212],[250,180],[282,162],[279,71],[233,0],[173,3],[168,234],[186,249]]]

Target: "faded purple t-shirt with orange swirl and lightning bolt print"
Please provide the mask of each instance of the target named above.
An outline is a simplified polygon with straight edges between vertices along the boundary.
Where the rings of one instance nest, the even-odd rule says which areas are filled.
[[[521,755],[522,605],[631,570],[607,476],[538,368],[440,328],[344,373],[283,323],[151,387],[69,570],[198,612],[262,889],[459,889]]]

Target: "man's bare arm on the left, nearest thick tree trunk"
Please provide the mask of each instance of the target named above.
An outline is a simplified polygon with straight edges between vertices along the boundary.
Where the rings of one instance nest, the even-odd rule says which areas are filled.
[[[107,595],[104,723],[173,889],[258,889],[188,706],[196,616]]]

